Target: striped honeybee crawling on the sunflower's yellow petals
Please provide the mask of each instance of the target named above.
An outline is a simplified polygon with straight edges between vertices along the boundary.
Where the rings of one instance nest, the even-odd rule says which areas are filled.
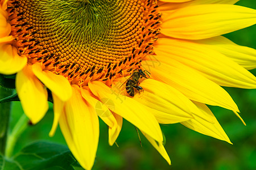
[[[147,75],[149,76],[149,72],[147,70],[134,70],[133,74],[131,74],[130,78],[127,79],[126,82],[126,92],[127,94],[129,94],[130,96],[134,96],[134,88],[136,88],[139,92],[143,91],[143,88],[141,86],[138,86],[139,84],[139,79],[141,78],[148,78]],[[125,82],[123,84],[125,84]],[[122,84],[122,86],[123,86]]]

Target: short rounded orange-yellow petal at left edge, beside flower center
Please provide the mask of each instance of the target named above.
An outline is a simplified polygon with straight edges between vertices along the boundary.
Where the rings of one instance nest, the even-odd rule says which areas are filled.
[[[0,44],[0,73],[15,74],[27,64],[26,56],[19,56],[10,44]]]

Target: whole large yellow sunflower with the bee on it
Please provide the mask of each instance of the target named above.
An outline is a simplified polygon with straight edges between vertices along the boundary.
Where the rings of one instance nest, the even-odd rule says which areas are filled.
[[[255,50],[222,34],[256,23],[238,0],[1,0],[0,73],[16,74],[33,124],[54,120],[91,169],[100,117],[113,145],[125,118],[171,164],[159,124],[180,122],[230,142],[213,113],[239,112],[221,86],[256,88]],[[242,120],[242,118],[241,118]]]

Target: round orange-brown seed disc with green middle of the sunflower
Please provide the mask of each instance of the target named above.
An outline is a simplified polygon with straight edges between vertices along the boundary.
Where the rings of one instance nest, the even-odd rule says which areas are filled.
[[[20,0],[7,11],[13,45],[44,70],[86,86],[138,69],[159,34],[155,0]]]

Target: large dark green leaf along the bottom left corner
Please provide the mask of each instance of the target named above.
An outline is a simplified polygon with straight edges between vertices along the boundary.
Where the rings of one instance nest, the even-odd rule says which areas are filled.
[[[74,170],[73,166],[78,167],[79,163],[67,146],[42,141],[24,147],[12,160],[0,158],[2,170]]]

